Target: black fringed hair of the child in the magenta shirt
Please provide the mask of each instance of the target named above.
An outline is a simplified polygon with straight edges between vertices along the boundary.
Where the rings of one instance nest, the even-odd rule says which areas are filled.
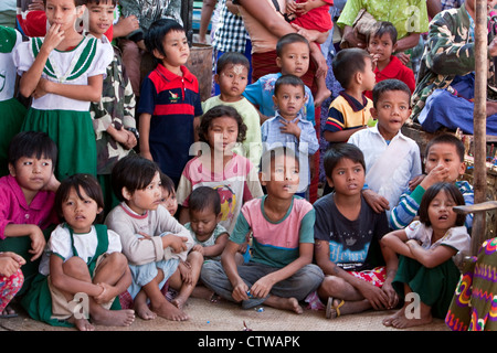
[[[9,145],[8,162],[15,165],[22,157],[45,158],[52,160],[55,170],[59,149],[55,142],[45,132],[23,131],[15,135]]]

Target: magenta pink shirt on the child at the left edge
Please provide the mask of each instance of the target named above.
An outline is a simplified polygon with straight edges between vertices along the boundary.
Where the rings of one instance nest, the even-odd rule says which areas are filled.
[[[40,191],[28,205],[15,178],[0,178],[0,239],[4,239],[8,224],[35,224],[41,229],[59,223],[53,207],[55,193]]]

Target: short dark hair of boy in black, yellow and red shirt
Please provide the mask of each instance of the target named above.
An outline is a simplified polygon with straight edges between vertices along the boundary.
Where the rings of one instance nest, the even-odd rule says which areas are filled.
[[[341,87],[348,88],[353,75],[364,72],[367,57],[371,58],[371,55],[358,47],[342,49],[337,53],[331,62],[331,67]]]

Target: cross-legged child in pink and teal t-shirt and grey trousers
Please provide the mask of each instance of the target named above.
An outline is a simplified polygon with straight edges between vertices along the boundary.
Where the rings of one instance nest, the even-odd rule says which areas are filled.
[[[295,196],[298,171],[292,150],[279,147],[264,153],[260,178],[267,195],[243,205],[221,263],[203,264],[202,282],[243,309],[266,304],[302,313],[299,301],[322,280],[322,271],[311,264],[314,210]],[[235,254],[251,231],[252,259],[237,266]]]

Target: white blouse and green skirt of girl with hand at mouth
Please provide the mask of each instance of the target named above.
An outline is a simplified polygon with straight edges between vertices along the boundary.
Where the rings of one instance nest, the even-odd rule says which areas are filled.
[[[19,45],[14,52],[19,75],[31,67],[42,44],[42,38],[32,38]],[[106,75],[113,55],[110,44],[85,36],[72,50],[53,50],[42,78],[66,85],[87,85],[88,77]],[[97,153],[89,101],[54,94],[33,98],[21,129],[46,132],[57,145],[55,175],[59,180],[75,173],[96,175]]]

